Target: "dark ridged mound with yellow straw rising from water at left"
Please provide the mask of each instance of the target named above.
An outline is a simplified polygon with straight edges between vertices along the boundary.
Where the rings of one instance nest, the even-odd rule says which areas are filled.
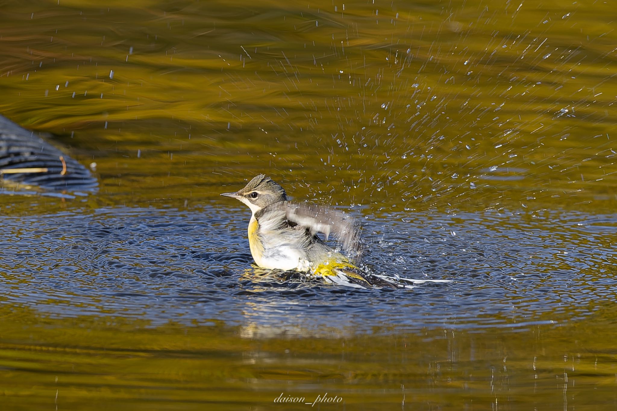
[[[88,169],[31,131],[0,116],[0,177],[51,190],[91,190]]]

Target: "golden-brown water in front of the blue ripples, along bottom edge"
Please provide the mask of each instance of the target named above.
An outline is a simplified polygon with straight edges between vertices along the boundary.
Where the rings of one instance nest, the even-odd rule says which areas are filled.
[[[376,329],[317,338],[299,330],[255,339],[217,321],[153,328],[118,317],[51,319],[23,307],[15,317],[16,308],[2,308],[6,409],[272,409],[281,392],[342,397],[333,409],[578,409],[615,399],[617,357],[604,343],[615,333],[603,314],[516,333]]]

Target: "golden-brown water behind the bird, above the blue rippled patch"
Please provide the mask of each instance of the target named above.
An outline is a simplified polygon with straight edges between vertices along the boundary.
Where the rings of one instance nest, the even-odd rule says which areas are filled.
[[[318,171],[373,210],[615,207],[607,4],[35,4],[1,17],[0,111],[130,201]]]

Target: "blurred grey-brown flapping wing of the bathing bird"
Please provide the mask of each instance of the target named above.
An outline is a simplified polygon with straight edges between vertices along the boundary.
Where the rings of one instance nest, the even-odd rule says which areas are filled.
[[[342,251],[357,257],[360,254],[360,231],[362,226],[349,214],[334,210],[328,206],[309,203],[291,203],[281,201],[269,205],[264,211],[279,219],[286,219],[293,225],[309,230],[311,235],[323,233],[328,240],[330,235],[336,238]],[[280,220],[279,220],[280,221]]]

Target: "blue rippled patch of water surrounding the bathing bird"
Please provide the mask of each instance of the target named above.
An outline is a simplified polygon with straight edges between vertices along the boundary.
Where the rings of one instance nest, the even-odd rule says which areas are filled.
[[[254,335],[255,327],[273,333],[325,325],[341,333],[375,324],[384,330],[529,327],[582,317],[594,301],[615,298],[605,235],[617,216],[491,211],[376,219],[365,228],[370,269],[453,280],[384,291],[256,269],[246,222],[231,215],[104,208],[0,216],[6,233],[0,301],[60,316],[111,312],[153,325],[218,319]]]

